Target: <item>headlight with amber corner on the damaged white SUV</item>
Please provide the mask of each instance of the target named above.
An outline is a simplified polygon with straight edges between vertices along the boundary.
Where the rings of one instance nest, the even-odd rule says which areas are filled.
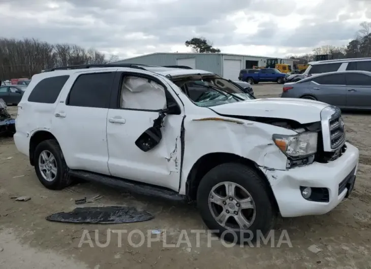
[[[273,141],[283,153],[304,157],[317,152],[317,132],[303,132],[295,136],[273,135]]]

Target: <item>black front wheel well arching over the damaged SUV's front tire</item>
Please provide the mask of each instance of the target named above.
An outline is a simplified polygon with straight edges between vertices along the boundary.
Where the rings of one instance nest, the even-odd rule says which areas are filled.
[[[258,169],[258,165],[250,159],[246,159],[232,153],[223,152],[209,153],[197,160],[197,162],[193,165],[187,178],[186,193],[188,198],[190,200],[196,200],[198,186],[202,178],[206,175],[206,173],[209,172],[213,167],[227,162],[242,163],[254,169],[258,173],[258,175],[260,175],[261,178],[264,180],[264,183],[267,187],[269,198],[271,199],[275,210],[277,212],[279,211],[279,207],[274,197],[272,188],[270,187],[270,183],[267,177],[264,175],[264,173],[260,169]]]

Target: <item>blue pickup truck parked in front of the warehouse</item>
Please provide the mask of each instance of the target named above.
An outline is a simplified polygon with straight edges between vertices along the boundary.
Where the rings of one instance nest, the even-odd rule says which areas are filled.
[[[243,69],[240,71],[239,79],[250,84],[259,82],[277,82],[282,84],[285,82],[285,73],[281,73],[277,69]]]

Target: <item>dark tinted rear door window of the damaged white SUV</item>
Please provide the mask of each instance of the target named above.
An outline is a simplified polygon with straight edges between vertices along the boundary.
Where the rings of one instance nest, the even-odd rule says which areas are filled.
[[[114,73],[80,75],[71,88],[68,106],[108,108]]]

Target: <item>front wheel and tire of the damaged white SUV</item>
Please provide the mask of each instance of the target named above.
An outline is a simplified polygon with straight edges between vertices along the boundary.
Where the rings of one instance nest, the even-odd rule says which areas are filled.
[[[273,227],[275,212],[267,187],[258,173],[240,163],[223,163],[211,169],[197,190],[203,221],[222,239],[254,242]]]

